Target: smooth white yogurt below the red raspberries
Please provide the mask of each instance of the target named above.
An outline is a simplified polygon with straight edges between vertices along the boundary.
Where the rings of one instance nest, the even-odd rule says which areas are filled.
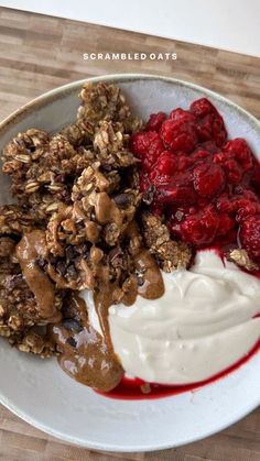
[[[160,299],[138,296],[130,307],[109,309],[111,340],[127,374],[161,384],[195,383],[236,363],[259,340],[258,278],[204,251],[192,270],[163,279]],[[91,293],[82,296],[100,331]]]

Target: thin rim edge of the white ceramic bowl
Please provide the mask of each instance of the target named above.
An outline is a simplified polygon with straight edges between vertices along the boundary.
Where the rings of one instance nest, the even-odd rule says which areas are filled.
[[[108,74],[102,76],[95,76],[95,77],[87,77],[79,80],[75,80],[65,85],[62,85],[59,87],[56,87],[52,90],[45,91],[44,94],[37,96],[36,98],[33,98],[28,103],[23,105],[15,111],[13,111],[10,116],[4,118],[0,122],[0,136],[3,135],[8,130],[12,127],[12,124],[21,121],[24,117],[26,117],[28,113],[32,112],[33,110],[37,110],[39,107],[47,106],[50,102],[54,102],[55,100],[62,99],[64,96],[68,96],[69,94],[75,92],[75,90],[78,90],[84,83],[110,83],[110,84],[120,84],[120,83],[130,83],[130,81],[138,81],[138,80],[160,80],[165,81],[169,84],[176,84],[178,86],[195,89],[198,90],[205,96],[213,97],[214,99],[217,99],[218,101],[221,101],[224,105],[228,105],[235,112],[239,112],[245,118],[247,118],[248,122],[251,125],[254,125],[258,130],[260,130],[260,121],[252,116],[250,112],[248,112],[246,109],[241,108],[236,102],[231,101],[229,98],[226,98],[225,96],[219,95],[218,92],[215,92],[208,88],[205,88],[201,85],[196,85],[186,80],[182,80],[174,77],[166,77],[163,75],[158,74],[139,74],[139,73],[126,73],[126,74]],[[171,397],[165,397],[171,398]],[[24,421],[29,422],[30,425],[34,426],[35,428],[42,430],[43,432],[51,435],[62,441],[65,441],[67,443],[71,443],[73,446],[77,447],[84,447],[88,449],[95,449],[100,451],[115,451],[115,452],[121,452],[122,447],[118,447],[115,444],[109,446],[108,443],[100,443],[95,441],[83,441],[83,440],[76,440],[74,437],[69,437],[63,432],[59,432],[58,430],[51,429],[45,424],[39,422],[37,419],[34,419],[33,417],[30,417],[26,415],[23,410],[19,409],[17,405],[13,405],[7,397],[4,397],[1,394],[0,389],[0,403],[4,405],[9,410],[11,410],[14,415],[23,419]],[[203,438],[213,436],[227,427],[229,427],[232,424],[236,424],[238,420],[247,416],[249,413],[251,413],[253,409],[256,409],[260,405],[260,397],[259,399],[256,399],[250,407],[247,407],[247,409],[241,409],[236,418],[224,422],[223,425],[218,425],[216,429],[205,431],[203,435],[199,433],[198,436],[195,436],[191,438],[188,441],[180,441],[177,443],[174,442],[167,442],[162,444],[154,444],[154,446],[123,446],[124,452],[145,452],[145,451],[156,451],[156,450],[164,450],[170,448],[180,447],[183,444],[188,444],[195,441],[198,441]]]

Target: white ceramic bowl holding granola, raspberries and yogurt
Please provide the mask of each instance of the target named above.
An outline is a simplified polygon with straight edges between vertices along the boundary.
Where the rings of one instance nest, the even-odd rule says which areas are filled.
[[[184,81],[145,75],[90,78],[119,85],[144,119],[202,96],[225,118],[230,138],[245,136],[260,152],[260,123],[231,101]],[[0,125],[0,147],[17,132],[36,127],[58,130],[75,119],[83,81],[50,91]],[[10,200],[1,177],[1,201]],[[148,400],[102,397],[71,380],[56,360],[41,361],[0,342],[0,402],[33,426],[71,443],[110,451],[148,451],[207,437],[260,404],[260,353],[236,372],[196,392]]]

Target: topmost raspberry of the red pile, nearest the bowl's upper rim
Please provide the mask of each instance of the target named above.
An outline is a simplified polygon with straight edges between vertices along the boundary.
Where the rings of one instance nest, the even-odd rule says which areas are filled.
[[[191,112],[196,117],[199,141],[214,140],[221,146],[227,140],[227,131],[221,116],[206,98],[197,99],[191,105]]]

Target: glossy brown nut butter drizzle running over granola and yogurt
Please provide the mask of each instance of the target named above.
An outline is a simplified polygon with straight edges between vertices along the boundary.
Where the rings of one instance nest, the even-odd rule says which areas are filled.
[[[102,193],[101,193],[102,194]],[[110,200],[110,199],[109,199]],[[104,201],[100,202],[104,207]],[[97,208],[99,202],[97,201]],[[113,216],[115,209],[99,209],[100,221],[106,222]],[[94,233],[95,229],[91,229]],[[164,285],[161,272],[154,257],[141,246],[138,227],[132,224],[128,230],[132,242],[134,272],[126,282],[126,293],[122,303],[131,305],[138,295],[147,299],[155,299],[163,295]],[[95,239],[94,239],[95,240]],[[72,318],[61,321],[61,312],[55,309],[54,284],[37,265],[37,259],[47,257],[45,232],[34,230],[25,234],[17,245],[19,259],[25,281],[34,294],[39,314],[50,323],[51,339],[59,352],[58,362],[62,369],[74,380],[102,392],[115,388],[123,376],[123,369],[116,356],[108,322],[108,309],[117,299],[118,282],[110,281],[109,267],[102,264],[104,253],[94,246],[90,259],[98,265],[98,287],[94,290],[96,311],[99,318],[102,336],[88,321],[87,306],[75,292],[72,292],[69,305],[74,312]],[[90,274],[89,274],[90,276]],[[57,281],[56,281],[57,282]]]

